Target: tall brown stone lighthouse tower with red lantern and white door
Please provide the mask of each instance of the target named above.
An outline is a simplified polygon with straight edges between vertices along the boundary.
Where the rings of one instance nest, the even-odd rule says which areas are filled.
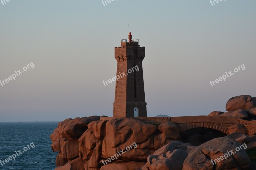
[[[113,117],[147,117],[142,69],[145,47],[140,47],[139,40],[132,39],[130,32],[128,40],[115,47],[115,58],[120,79],[116,80]]]

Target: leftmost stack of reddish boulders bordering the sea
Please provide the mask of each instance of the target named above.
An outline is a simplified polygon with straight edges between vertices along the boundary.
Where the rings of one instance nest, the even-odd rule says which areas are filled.
[[[79,157],[78,138],[88,129],[88,124],[100,120],[100,116],[90,116],[75,119],[66,119],[58,124],[51,134],[52,151],[59,152],[56,158],[56,166],[59,169],[80,170],[87,159]]]

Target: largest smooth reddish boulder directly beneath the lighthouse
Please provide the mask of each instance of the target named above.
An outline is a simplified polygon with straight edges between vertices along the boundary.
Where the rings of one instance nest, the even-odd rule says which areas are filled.
[[[161,141],[154,142],[157,126],[145,124],[136,119],[112,119],[106,124],[106,136],[102,145],[102,157],[110,158],[117,151],[125,150],[136,142],[138,147],[122,155],[122,159],[147,160],[147,153],[153,153],[161,147]],[[157,140],[159,141],[159,139]]]

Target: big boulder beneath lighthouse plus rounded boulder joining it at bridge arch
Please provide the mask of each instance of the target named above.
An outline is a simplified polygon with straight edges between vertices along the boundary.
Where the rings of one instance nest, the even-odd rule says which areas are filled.
[[[106,129],[102,145],[103,159],[110,158],[117,151],[125,150],[129,144],[136,142],[136,149],[123,154],[122,159],[146,161],[148,154],[154,153],[170,141],[180,139],[179,129],[172,122],[157,127],[137,119],[119,118],[108,121]]]

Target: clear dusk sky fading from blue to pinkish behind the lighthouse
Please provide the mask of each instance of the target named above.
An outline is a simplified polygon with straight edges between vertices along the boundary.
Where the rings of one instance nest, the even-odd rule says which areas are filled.
[[[102,81],[116,74],[114,48],[128,38],[128,23],[146,49],[148,117],[225,112],[231,97],[256,97],[255,5],[254,0],[0,4],[0,81],[18,74],[0,85],[0,122],[112,117],[115,83]],[[209,83],[242,64],[245,69],[225,81]]]

